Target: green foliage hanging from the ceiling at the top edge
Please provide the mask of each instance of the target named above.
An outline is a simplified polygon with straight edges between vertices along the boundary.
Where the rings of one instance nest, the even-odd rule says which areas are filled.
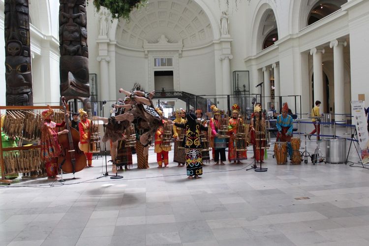
[[[89,1],[89,0],[87,0]],[[113,19],[129,19],[129,14],[134,8],[144,6],[147,0],[93,0],[93,5],[99,11],[100,7],[107,8]]]

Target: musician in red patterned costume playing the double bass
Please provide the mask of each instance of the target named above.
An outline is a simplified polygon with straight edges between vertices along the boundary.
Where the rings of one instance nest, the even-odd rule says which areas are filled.
[[[47,176],[54,178],[58,175],[58,157],[62,150],[59,146],[57,127],[63,127],[65,122],[57,124],[51,121],[54,110],[49,107],[42,112],[44,123],[41,126],[41,160],[45,161]]]

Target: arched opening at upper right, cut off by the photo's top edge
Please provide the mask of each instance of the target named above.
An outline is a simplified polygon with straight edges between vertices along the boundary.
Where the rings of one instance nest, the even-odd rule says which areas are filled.
[[[311,25],[324,17],[336,12],[347,0],[320,0],[314,4],[307,17],[307,25]]]

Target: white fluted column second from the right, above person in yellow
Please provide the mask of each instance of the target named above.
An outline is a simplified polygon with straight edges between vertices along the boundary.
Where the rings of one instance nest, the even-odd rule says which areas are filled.
[[[324,113],[324,94],[323,94],[323,66],[322,66],[322,55],[324,54],[324,49],[313,48],[310,50],[310,55],[312,55],[313,60],[313,70],[314,70],[314,101],[319,100],[320,113]]]

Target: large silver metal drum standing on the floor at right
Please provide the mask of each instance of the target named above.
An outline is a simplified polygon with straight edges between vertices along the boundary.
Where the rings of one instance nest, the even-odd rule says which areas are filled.
[[[326,155],[328,163],[344,163],[346,161],[346,139],[332,138],[326,142]]]

